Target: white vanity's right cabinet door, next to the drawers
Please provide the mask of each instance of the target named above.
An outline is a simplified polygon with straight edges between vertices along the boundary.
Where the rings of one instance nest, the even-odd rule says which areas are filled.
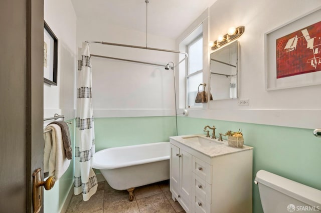
[[[190,211],[192,191],[192,155],[180,149],[180,195],[186,211]]]

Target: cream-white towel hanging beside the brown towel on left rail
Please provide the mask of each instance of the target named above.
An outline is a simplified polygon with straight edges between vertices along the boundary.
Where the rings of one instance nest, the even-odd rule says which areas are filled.
[[[70,160],[66,157],[60,126],[49,124],[44,130],[49,129],[51,131],[44,134],[44,172],[49,172],[49,176],[55,176],[58,180],[69,167]]]

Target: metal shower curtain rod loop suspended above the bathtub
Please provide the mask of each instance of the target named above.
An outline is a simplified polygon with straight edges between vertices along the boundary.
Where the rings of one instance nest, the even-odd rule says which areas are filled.
[[[105,44],[105,45],[123,46],[123,47],[130,47],[130,48],[139,48],[139,49],[148,49],[148,50],[155,50],[155,51],[165,51],[165,52],[184,54],[185,57],[179,63],[181,63],[183,60],[185,60],[188,57],[187,52],[181,52],[181,51],[170,50],[170,49],[152,48],[152,47],[147,47],[147,46],[135,46],[135,45],[122,44],[122,43],[110,43],[110,42],[96,41],[96,40],[86,40],[85,42],[86,43],[100,43],[100,44]],[[95,57],[104,57],[104,58],[124,60],[124,61],[129,61],[129,62],[137,62],[137,63],[144,63],[144,64],[150,64],[150,65],[157,65],[157,66],[165,66],[165,65],[161,65],[161,64],[149,63],[149,62],[138,61],[138,60],[128,60],[128,59],[123,59],[123,58],[108,57],[108,56],[96,55],[96,54],[90,54],[90,55],[95,56]]]

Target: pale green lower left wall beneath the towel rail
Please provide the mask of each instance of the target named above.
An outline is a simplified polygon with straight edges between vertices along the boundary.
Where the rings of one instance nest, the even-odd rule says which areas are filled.
[[[68,124],[70,129],[70,137],[72,142],[72,150],[75,150],[75,120],[72,124]],[[74,153],[73,153],[74,154]],[[57,213],[61,212],[70,189],[73,187],[74,182],[74,159],[71,159],[70,165],[66,172],[55,182],[54,187],[51,190],[44,189],[44,212],[45,213]],[[68,200],[69,201],[69,200]],[[69,203],[66,203],[68,205]]]

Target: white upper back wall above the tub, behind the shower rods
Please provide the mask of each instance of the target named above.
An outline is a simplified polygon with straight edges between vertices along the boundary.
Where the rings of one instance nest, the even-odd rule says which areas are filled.
[[[146,32],[123,28],[97,17],[77,20],[77,46],[97,40],[146,46]],[[166,65],[175,53],[91,43],[90,53]],[[147,46],[175,49],[175,40],[147,35]],[[174,61],[175,62],[175,61]],[[95,117],[175,115],[172,70],[119,60],[91,57]]]

